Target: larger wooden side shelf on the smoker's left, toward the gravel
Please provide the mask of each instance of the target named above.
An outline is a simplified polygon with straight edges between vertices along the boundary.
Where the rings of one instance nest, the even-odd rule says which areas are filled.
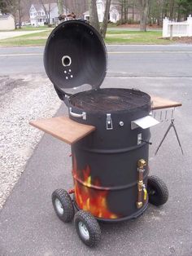
[[[52,117],[30,121],[30,125],[61,139],[68,144],[75,143],[95,130],[95,126],[82,125],[69,117]]]

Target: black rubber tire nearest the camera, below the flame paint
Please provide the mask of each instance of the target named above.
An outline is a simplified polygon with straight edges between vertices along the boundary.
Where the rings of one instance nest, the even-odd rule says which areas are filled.
[[[74,222],[76,226],[76,232],[85,245],[93,247],[98,244],[98,242],[101,240],[101,229],[98,225],[98,221],[92,214],[85,210],[79,210],[75,214]],[[85,236],[82,235],[80,230],[81,223],[85,225],[87,232],[89,232],[89,238],[85,238]]]

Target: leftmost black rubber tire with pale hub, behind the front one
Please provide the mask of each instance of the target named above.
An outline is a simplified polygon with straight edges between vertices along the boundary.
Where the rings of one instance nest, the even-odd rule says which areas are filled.
[[[56,200],[60,201],[60,204],[63,208],[63,213],[59,213],[57,206],[55,205]],[[56,189],[55,192],[52,193],[52,203],[54,205],[55,213],[58,217],[64,222],[69,223],[74,218],[75,210],[72,203],[72,198],[69,196],[68,192],[64,189]]]

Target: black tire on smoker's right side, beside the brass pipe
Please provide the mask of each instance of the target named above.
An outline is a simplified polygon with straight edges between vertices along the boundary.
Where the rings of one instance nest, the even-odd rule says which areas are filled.
[[[147,192],[152,205],[164,205],[168,201],[168,188],[164,181],[157,176],[148,177]]]

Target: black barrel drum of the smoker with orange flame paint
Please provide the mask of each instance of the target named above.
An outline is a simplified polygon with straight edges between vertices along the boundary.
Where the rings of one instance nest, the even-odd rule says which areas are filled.
[[[84,99],[88,93],[89,97],[95,98],[92,107]],[[103,103],[103,95],[107,102]],[[120,105],[116,104],[114,95],[121,100]],[[130,105],[130,99],[124,99],[122,95],[127,95],[127,98],[131,95],[136,98],[133,100],[136,103],[139,98],[138,106]],[[142,200],[142,208],[137,208],[137,161],[145,159],[148,163],[149,152],[149,144],[139,142],[138,135],[149,141],[151,134],[149,128],[143,130],[138,127],[132,130],[131,121],[149,114],[150,96],[137,90],[99,89],[73,95],[69,102],[71,113],[81,114],[82,110],[86,111],[86,120],[72,117],[69,113],[72,120],[96,127],[93,133],[72,145],[72,174],[77,208],[88,210],[94,217],[104,221],[136,218],[146,209],[148,202],[147,198]],[[104,105],[103,109],[99,109],[100,104]],[[111,125],[107,129],[109,113]],[[148,166],[143,172],[145,185],[147,174]]]

